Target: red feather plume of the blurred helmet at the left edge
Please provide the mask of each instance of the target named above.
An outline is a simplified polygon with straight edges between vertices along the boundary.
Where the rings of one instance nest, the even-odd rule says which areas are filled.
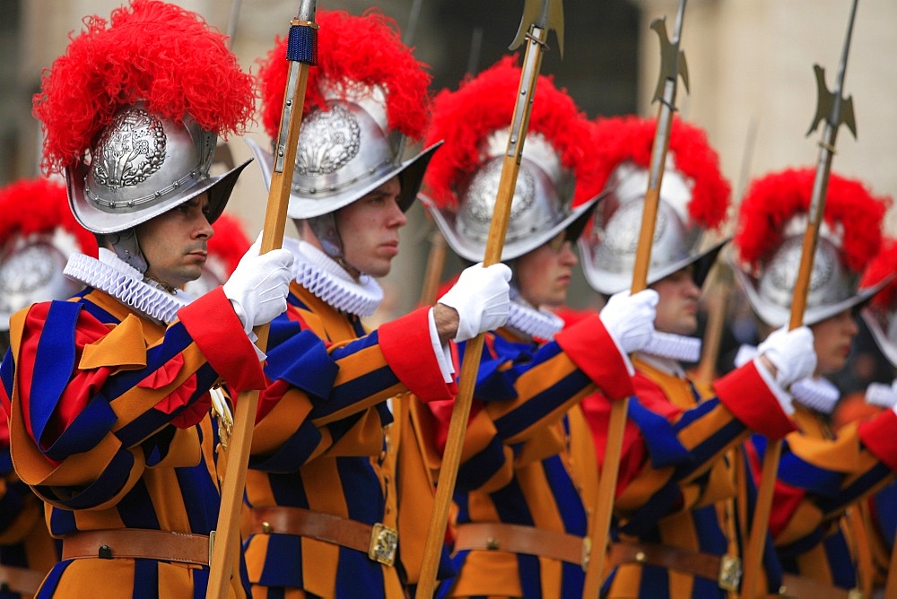
[[[46,178],[20,179],[0,189],[0,246],[15,237],[53,234],[61,228],[74,236],[81,252],[96,257],[93,233],[74,220],[65,186]]]

